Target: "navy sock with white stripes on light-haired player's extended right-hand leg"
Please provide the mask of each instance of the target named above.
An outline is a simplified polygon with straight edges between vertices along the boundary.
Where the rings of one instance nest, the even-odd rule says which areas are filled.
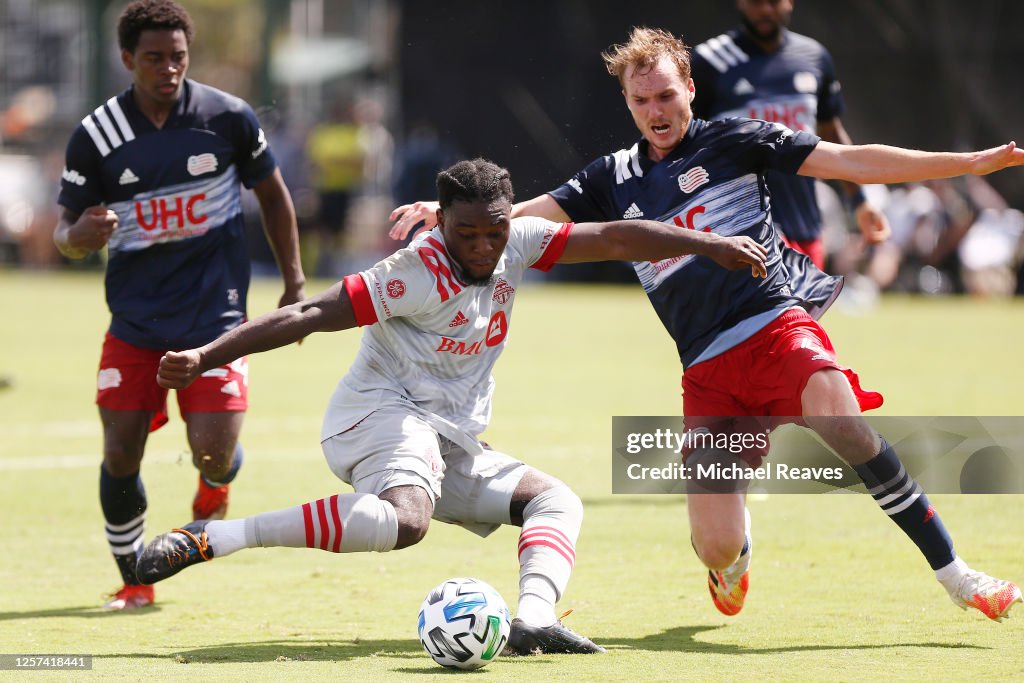
[[[933,569],[953,561],[956,553],[945,525],[885,439],[879,455],[853,469],[867,484],[874,502],[916,544]]]

